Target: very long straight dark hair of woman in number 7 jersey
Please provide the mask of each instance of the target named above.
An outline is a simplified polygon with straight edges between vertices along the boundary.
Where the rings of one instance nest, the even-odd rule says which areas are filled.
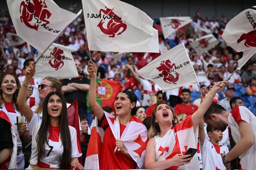
[[[43,101],[43,117],[42,117],[42,122],[39,128],[39,131],[36,135],[36,143],[37,143],[37,152],[38,152],[38,157],[37,157],[37,162],[39,163],[41,160],[43,160],[46,156],[45,153],[45,144],[48,144],[48,139],[47,139],[47,133],[49,131],[49,125],[50,125],[50,116],[47,111],[47,104],[49,101],[49,98],[52,95],[58,95],[61,98],[61,115],[59,117],[60,121],[60,135],[61,135],[61,141],[63,145],[63,153],[62,153],[62,158],[61,158],[61,167],[60,169],[69,169],[70,166],[70,157],[71,157],[71,138],[70,138],[70,131],[68,127],[68,122],[67,122],[67,105],[64,96],[61,94],[61,92],[56,91],[56,92],[50,92],[45,100]]]

